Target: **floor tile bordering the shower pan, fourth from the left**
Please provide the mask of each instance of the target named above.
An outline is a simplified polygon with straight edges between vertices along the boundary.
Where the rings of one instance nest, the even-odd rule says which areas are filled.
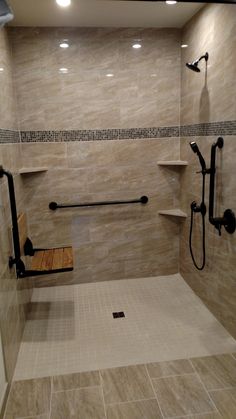
[[[151,364],[147,364],[147,370],[151,378],[192,374],[195,372],[191,363],[186,359],[169,362],[153,362]]]

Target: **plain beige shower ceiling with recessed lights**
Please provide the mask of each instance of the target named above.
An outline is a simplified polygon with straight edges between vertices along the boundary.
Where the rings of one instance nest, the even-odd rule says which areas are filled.
[[[12,26],[182,27],[204,3],[72,0],[61,8],[55,0],[10,0]]]

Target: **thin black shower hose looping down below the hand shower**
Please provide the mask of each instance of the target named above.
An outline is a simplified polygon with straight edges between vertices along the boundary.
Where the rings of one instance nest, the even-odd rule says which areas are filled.
[[[194,224],[194,213],[200,212],[202,218],[202,263],[198,265],[192,249],[192,235],[193,235],[193,224]],[[206,229],[205,229],[205,215],[206,215],[206,205],[205,205],[205,173],[202,173],[202,203],[200,206],[197,206],[196,202],[191,204],[191,220],[190,220],[190,232],[189,232],[189,249],[194,263],[195,268],[199,271],[202,271],[206,263]]]

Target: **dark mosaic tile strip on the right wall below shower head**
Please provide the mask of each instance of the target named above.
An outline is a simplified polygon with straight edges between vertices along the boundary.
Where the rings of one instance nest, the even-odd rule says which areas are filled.
[[[236,135],[236,120],[223,122],[210,122],[205,124],[182,125],[181,137],[210,136],[210,135]]]

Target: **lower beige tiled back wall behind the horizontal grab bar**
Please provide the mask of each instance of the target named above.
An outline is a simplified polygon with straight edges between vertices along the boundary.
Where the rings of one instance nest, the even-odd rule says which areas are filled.
[[[48,172],[23,177],[34,245],[73,245],[73,273],[35,286],[171,274],[178,271],[179,223],[158,210],[179,205],[179,172],[158,160],[179,158],[179,139],[21,144],[28,164]],[[39,157],[40,156],[40,157]],[[62,160],[63,157],[63,160]],[[124,200],[145,205],[48,209],[58,203]]]

